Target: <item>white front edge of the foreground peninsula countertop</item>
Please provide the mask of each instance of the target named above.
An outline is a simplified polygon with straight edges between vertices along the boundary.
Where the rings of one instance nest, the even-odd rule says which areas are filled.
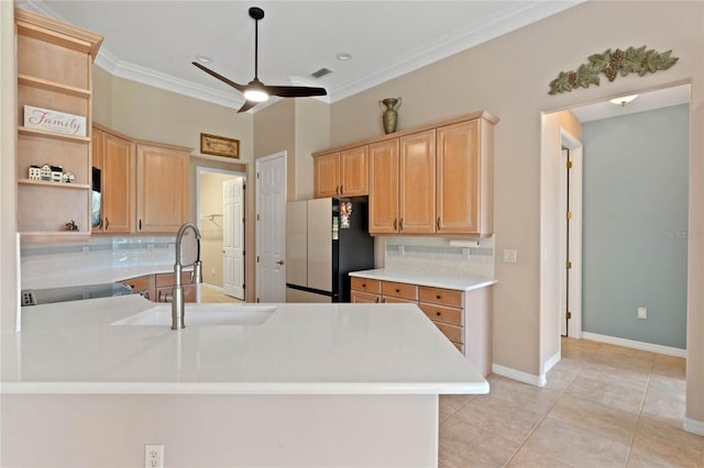
[[[486,394],[477,383],[2,382],[0,394]]]

